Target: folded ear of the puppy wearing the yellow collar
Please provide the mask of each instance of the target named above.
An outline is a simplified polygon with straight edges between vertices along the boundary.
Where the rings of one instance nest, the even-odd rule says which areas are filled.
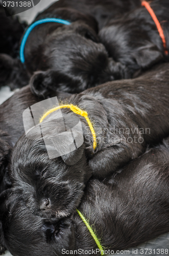
[[[83,157],[84,154],[84,148],[79,147],[77,150],[74,150],[73,152],[70,152],[66,155],[61,156],[65,164],[67,165],[74,165]]]

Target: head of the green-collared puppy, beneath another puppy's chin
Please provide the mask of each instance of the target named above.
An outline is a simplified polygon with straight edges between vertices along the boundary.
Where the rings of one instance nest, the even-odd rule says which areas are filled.
[[[1,194],[1,246],[12,255],[60,255],[62,248],[74,249],[75,233],[69,219],[50,221],[31,214],[12,189]]]

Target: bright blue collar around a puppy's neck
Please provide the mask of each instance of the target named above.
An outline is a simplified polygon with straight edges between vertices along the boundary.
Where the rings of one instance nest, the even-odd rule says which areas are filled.
[[[64,24],[64,25],[70,25],[71,24],[70,22],[67,22],[67,20],[60,19],[60,18],[44,18],[44,19],[37,20],[37,22],[33,23],[27,29],[27,31],[26,31],[26,33],[23,36],[22,41],[21,41],[21,45],[20,45],[20,60],[21,60],[22,63],[25,62],[24,49],[25,49],[25,44],[26,44],[26,41],[28,39],[29,34],[31,33],[33,28],[35,28],[37,25],[43,24],[43,23],[48,23],[48,22],[61,23],[61,24]]]

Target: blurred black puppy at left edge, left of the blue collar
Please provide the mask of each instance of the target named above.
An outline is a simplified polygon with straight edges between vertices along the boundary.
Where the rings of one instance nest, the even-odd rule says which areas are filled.
[[[9,14],[7,10],[6,12]],[[17,58],[19,41],[27,24],[20,23],[16,16],[7,17],[1,5],[0,23],[3,24],[0,28],[0,87],[8,85],[13,90],[26,86],[30,78]]]

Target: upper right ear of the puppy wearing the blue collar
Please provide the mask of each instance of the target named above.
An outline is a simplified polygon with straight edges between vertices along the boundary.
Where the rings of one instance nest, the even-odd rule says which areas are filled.
[[[87,39],[90,39],[94,42],[99,42],[99,37],[96,35],[95,31],[88,27],[87,25],[81,25],[76,29],[76,32]]]

